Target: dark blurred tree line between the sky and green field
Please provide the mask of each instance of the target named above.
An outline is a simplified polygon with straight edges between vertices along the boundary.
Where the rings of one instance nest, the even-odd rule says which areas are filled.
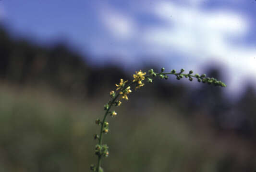
[[[47,86],[65,97],[86,101],[102,95],[107,97],[120,78],[131,80],[132,73],[128,75],[117,66],[92,67],[86,64],[87,58],[89,57],[82,57],[64,44],[46,48],[26,40],[12,39],[4,29],[0,29],[2,83],[21,87]],[[156,66],[144,68],[158,69]],[[210,69],[206,73],[210,77],[223,80],[219,69]],[[219,137],[234,135],[235,138],[256,144],[256,93],[253,86],[247,84],[242,97],[230,103],[228,98],[224,97],[225,88],[200,84],[199,88],[189,89],[182,83],[172,84],[160,79],[154,82],[157,83],[148,84],[131,95],[134,101],[126,106],[139,109],[162,102],[183,112],[181,114],[184,118],[195,125],[202,128],[210,126]],[[141,100],[143,104],[140,103]],[[229,171],[232,166],[229,163],[233,162],[229,158],[223,161],[219,171]]]

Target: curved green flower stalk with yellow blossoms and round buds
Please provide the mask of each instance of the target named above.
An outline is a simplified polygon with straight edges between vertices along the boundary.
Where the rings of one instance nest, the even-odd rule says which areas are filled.
[[[103,169],[100,167],[101,160],[103,157],[108,157],[109,156],[109,147],[106,144],[102,143],[102,138],[103,134],[107,134],[109,132],[109,123],[106,121],[106,118],[108,115],[110,117],[115,117],[117,115],[116,111],[110,111],[110,108],[112,106],[120,106],[122,104],[122,99],[129,100],[128,94],[132,92],[131,86],[135,85],[135,90],[144,86],[145,84],[143,83],[145,80],[148,83],[152,83],[153,79],[156,78],[157,76],[161,79],[168,79],[168,75],[175,75],[177,80],[182,79],[183,77],[188,78],[189,81],[193,81],[193,78],[197,79],[198,82],[202,83],[207,83],[207,84],[213,84],[215,86],[221,86],[221,87],[226,87],[226,85],[215,79],[215,78],[209,78],[206,77],[206,74],[195,74],[193,75],[193,71],[189,71],[188,74],[184,74],[183,72],[185,71],[184,69],[181,69],[179,73],[176,73],[176,70],[173,69],[171,72],[165,73],[165,68],[161,68],[161,72],[156,73],[154,72],[153,69],[150,69],[148,71],[148,74],[146,75],[146,72],[136,71],[135,74],[133,75],[134,80],[127,84],[128,81],[123,81],[123,79],[120,79],[120,83],[116,84],[117,88],[116,91],[110,91],[110,97],[111,100],[104,105],[104,110],[106,110],[105,115],[102,120],[99,118],[96,119],[95,123],[100,126],[100,132],[99,134],[94,135],[94,139],[98,140],[98,144],[95,146],[95,154],[98,156],[98,163],[97,165],[91,165],[91,171],[92,172],[103,172]],[[118,99],[118,97],[120,98]]]

